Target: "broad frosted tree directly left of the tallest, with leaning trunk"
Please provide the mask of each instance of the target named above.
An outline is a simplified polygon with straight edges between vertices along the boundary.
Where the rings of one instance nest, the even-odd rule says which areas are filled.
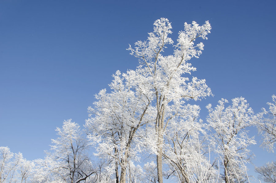
[[[136,131],[148,123],[150,100],[132,88],[132,77],[117,71],[113,78],[111,93],[101,90],[95,95],[86,128],[96,155],[110,161],[105,167],[109,175],[115,174],[116,182],[125,182],[130,158],[139,160],[137,152],[143,142],[135,143]]]

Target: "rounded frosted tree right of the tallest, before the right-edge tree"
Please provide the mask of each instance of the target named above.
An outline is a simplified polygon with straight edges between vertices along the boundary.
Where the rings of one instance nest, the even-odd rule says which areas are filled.
[[[212,133],[210,143],[222,160],[225,183],[246,181],[244,163],[249,162],[251,156],[248,146],[255,144],[246,127],[254,125],[253,111],[242,97],[232,99],[232,105],[226,108],[226,99],[218,103],[214,109],[211,104],[206,106],[209,111],[207,128]]]

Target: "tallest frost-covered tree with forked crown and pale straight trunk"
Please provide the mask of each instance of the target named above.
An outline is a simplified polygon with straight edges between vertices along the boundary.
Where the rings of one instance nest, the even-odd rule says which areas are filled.
[[[151,101],[155,121],[149,124],[152,131],[146,136],[151,150],[156,154],[158,182],[163,182],[162,158],[164,132],[181,106],[189,99],[198,100],[211,94],[205,80],[196,77],[189,80],[188,75],[196,68],[188,62],[201,54],[203,44],[195,44],[198,37],[207,39],[211,26],[208,21],[199,26],[185,23],[184,31],[178,33],[172,55],[162,55],[167,45],[173,45],[169,35],[171,23],[166,18],[154,22],[154,31],[148,33],[146,41],[137,41],[135,47],[129,46],[130,54],[139,58],[139,66],[135,71],[128,71],[132,78],[132,87]],[[185,75],[186,74],[186,75]]]

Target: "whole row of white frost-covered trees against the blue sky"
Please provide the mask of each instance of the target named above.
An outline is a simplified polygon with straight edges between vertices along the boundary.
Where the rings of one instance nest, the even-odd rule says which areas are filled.
[[[188,102],[213,94],[204,79],[189,78],[196,71],[189,60],[202,53],[204,45],[196,40],[207,39],[211,25],[185,23],[176,44],[171,28],[166,18],[156,20],[146,41],[129,46],[139,59],[136,70],[117,71],[111,92],[95,95],[83,130],[64,121],[44,159],[27,161],[0,147],[0,182],[250,182],[246,164],[256,142],[248,127],[257,127],[261,146],[273,152],[276,96],[258,114],[242,97],[221,99],[216,107],[206,106],[206,121],[199,119],[200,107]],[[166,56],[168,45],[174,51]],[[256,171],[263,181],[275,182],[275,169],[271,162]]]

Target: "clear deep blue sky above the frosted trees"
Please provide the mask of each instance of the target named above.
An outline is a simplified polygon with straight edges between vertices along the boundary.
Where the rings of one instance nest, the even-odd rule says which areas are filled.
[[[29,160],[44,157],[64,119],[83,125],[94,94],[111,75],[135,69],[128,44],[147,39],[153,22],[209,20],[211,34],[191,60],[214,97],[243,96],[255,113],[276,94],[276,1],[13,1],[0,2],[0,146]],[[252,132],[253,133],[253,132]],[[258,140],[258,138],[257,138]],[[252,147],[256,165],[275,160]]]

